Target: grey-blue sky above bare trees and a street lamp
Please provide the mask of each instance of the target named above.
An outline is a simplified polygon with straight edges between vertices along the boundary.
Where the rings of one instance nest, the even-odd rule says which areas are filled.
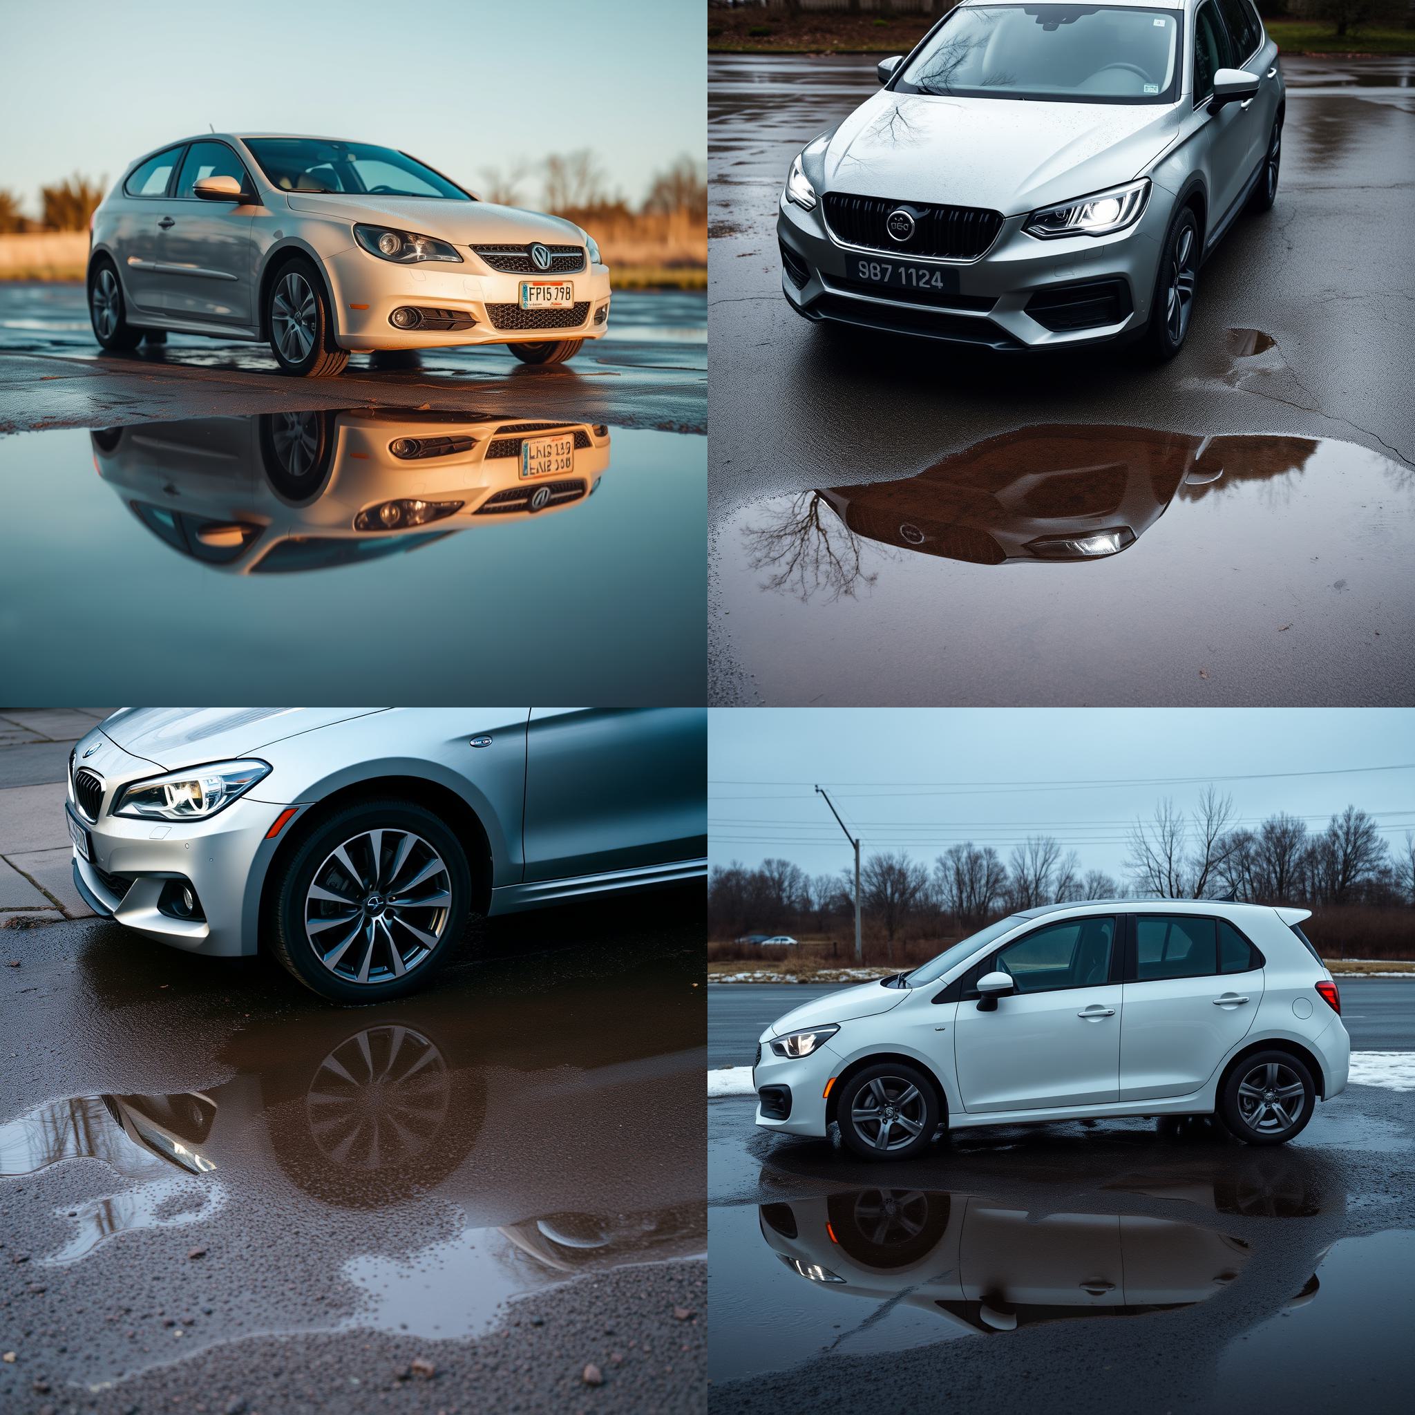
[[[1354,802],[1402,841],[1415,828],[1412,767],[1407,709],[715,709],[709,856],[843,869],[850,848],[819,782],[865,852],[906,848],[932,863],[972,839],[1006,859],[1041,833],[1074,848],[1082,870],[1121,880],[1126,824],[1165,795],[1191,808],[1208,781],[1232,794],[1242,824],[1288,811],[1322,828]]]

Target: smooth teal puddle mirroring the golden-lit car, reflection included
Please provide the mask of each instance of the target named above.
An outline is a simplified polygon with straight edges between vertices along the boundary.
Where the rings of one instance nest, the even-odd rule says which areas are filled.
[[[58,702],[95,674],[143,702],[311,674],[341,700],[372,675],[702,702],[705,487],[702,437],[475,413],[23,433],[0,439],[0,661]],[[133,652],[132,624],[170,652]]]

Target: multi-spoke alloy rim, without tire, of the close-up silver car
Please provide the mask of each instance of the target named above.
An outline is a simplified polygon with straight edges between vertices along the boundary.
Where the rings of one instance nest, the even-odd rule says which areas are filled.
[[[364,831],[325,856],[304,899],[304,931],[335,978],[412,972],[441,942],[451,907],[443,857],[412,831]]]

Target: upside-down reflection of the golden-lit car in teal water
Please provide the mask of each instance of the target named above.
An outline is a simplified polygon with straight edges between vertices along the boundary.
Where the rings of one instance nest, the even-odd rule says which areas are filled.
[[[98,474],[174,550],[235,574],[351,565],[594,494],[608,429],[410,409],[92,433]]]

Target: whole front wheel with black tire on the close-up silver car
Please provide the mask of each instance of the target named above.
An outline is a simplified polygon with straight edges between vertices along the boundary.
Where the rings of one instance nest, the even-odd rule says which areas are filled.
[[[409,903],[393,908],[399,899]],[[388,1002],[423,988],[457,947],[471,869],[432,811],[364,801],[311,824],[280,869],[270,914],[273,952],[306,988],[330,1002]]]

